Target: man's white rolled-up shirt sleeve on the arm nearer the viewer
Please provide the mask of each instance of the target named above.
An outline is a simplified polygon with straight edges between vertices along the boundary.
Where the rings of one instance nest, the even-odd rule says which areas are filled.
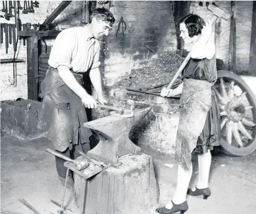
[[[72,52],[75,48],[75,43],[76,36],[74,32],[69,29],[60,32],[54,41],[48,64],[53,68],[64,65],[72,69]]]

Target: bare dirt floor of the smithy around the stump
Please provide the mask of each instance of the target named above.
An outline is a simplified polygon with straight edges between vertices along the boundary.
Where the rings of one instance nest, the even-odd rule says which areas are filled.
[[[47,139],[23,141],[6,134],[1,137],[1,209],[23,214],[33,213],[18,200],[25,199],[42,214],[57,213],[59,207],[51,203],[50,199],[60,203],[63,186],[55,172],[54,156],[45,152],[47,147],[51,147]],[[161,193],[160,203],[168,203],[175,190],[177,165],[171,158],[146,150],[144,152],[153,156]],[[196,162],[195,156],[191,187],[196,184],[198,175]],[[174,166],[168,168],[166,163]],[[210,181],[212,196],[208,200],[189,196],[189,210],[186,214],[255,213],[255,163],[256,151],[237,158],[223,153],[215,155],[212,159]],[[75,209],[72,199],[72,190],[67,190],[66,202]],[[161,204],[155,204],[144,214],[156,213],[155,208]]]

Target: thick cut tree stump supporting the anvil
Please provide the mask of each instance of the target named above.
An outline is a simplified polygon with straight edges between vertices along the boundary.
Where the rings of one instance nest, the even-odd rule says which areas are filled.
[[[84,207],[81,213],[139,213],[158,203],[152,157],[144,153],[123,155],[118,162],[122,164],[117,168],[110,166],[88,180],[75,173],[75,203],[79,210]],[[81,172],[87,174],[88,170]]]

